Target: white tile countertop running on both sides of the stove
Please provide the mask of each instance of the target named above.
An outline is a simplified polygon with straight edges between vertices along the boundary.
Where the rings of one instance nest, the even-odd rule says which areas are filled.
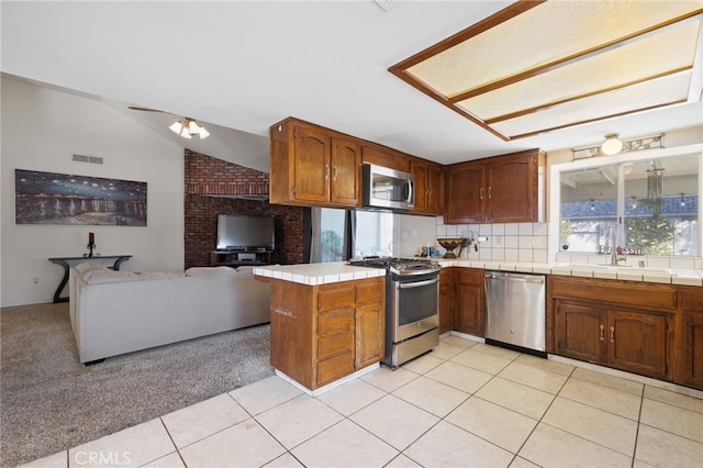
[[[528,264],[433,258],[443,267],[483,268],[489,270],[563,275],[582,278],[620,279],[667,285],[703,286],[703,270],[678,268],[616,267],[589,264]],[[382,268],[354,267],[346,261],[327,264],[270,265],[255,267],[254,275],[315,286],[386,276]]]

